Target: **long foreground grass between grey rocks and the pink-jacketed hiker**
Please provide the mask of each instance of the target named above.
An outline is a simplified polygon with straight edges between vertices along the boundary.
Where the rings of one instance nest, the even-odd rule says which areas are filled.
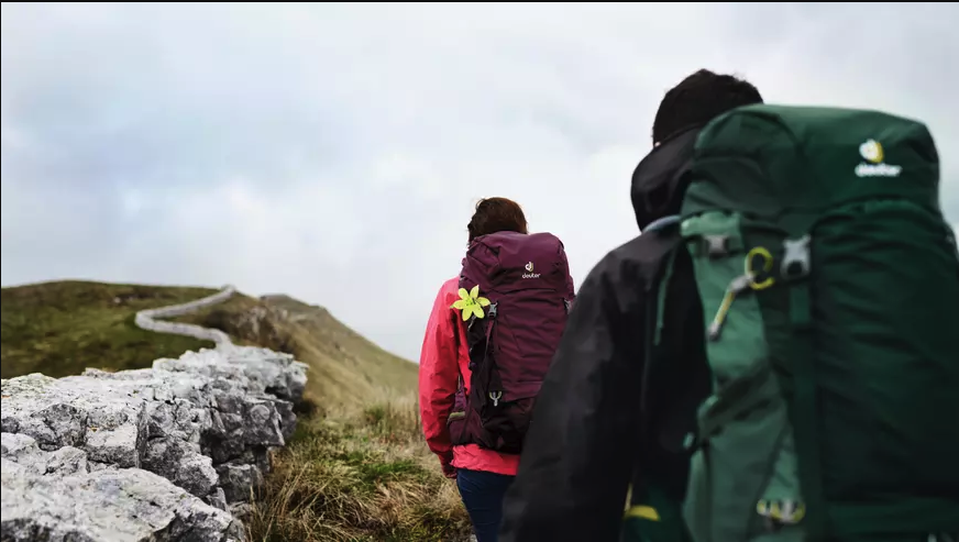
[[[246,518],[255,542],[459,541],[470,520],[422,442],[416,403],[394,399],[302,420]]]

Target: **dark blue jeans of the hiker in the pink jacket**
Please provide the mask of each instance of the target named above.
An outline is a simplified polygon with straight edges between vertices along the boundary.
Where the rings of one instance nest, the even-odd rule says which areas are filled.
[[[514,476],[485,471],[456,471],[456,487],[473,522],[476,542],[496,542],[503,521],[503,498]]]

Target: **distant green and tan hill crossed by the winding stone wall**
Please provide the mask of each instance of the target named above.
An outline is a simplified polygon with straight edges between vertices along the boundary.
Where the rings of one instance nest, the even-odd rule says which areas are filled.
[[[192,301],[208,288],[43,283],[2,290],[2,377],[41,372],[59,377],[86,367],[148,367],[158,357],[212,347],[196,339],[139,329],[137,311]],[[384,392],[409,392],[417,366],[333,318],[287,296],[235,295],[174,319],[217,328],[238,344],[288,352],[310,367],[308,396],[320,405],[364,405]]]

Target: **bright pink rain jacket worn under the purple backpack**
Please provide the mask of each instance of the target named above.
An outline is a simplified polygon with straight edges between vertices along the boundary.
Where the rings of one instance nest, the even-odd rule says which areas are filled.
[[[466,394],[470,394],[470,355],[466,350],[466,329],[458,312],[450,308],[458,299],[459,277],[451,278],[440,288],[433,311],[427,324],[423,347],[420,353],[419,403],[423,435],[430,450],[443,465],[456,468],[486,471],[516,475],[519,455],[500,454],[477,444],[453,446],[447,419],[453,409],[459,376],[463,375]]]

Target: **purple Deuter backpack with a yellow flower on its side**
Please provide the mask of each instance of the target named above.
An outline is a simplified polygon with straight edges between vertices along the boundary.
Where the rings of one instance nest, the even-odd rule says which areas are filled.
[[[472,378],[470,397],[462,378],[456,391],[453,444],[517,454],[575,298],[563,243],[550,233],[476,237],[460,288]]]

